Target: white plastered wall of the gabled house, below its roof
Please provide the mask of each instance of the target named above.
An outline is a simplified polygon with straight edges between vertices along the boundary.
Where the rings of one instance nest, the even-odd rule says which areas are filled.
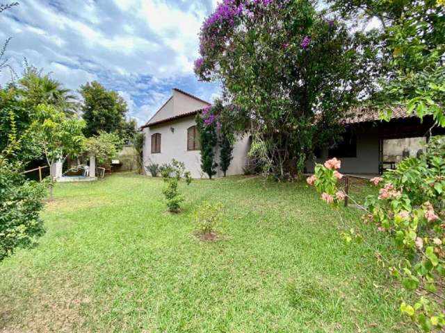
[[[207,178],[207,174],[201,171],[200,151],[187,151],[187,129],[195,125],[195,117],[186,117],[177,121],[169,121],[158,126],[144,128],[145,144],[143,150],[144,165],[150,163],[170,163],[173,158],[184,162],[186,169],[191,172],[193,178]],[[170,128],[174,128],[174,132]],[[161,153],[152,154],[152,135],[161,133]],[[227,170],[227,176],[243,174],[243,168],[250,149],[250,140],[247,136],[238,137],[234,144],[234,159]],[[216,162],[219,153],[216,152]],[[223,172],[217,168],[216,177],[223,176]]]

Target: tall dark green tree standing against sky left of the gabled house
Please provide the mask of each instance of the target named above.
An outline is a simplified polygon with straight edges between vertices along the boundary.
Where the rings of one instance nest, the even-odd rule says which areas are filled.
[[[128,111],[124,99],[96,81],[82,85],[80,93],[83,96],[82,111],[86,121],[83,133],[86,137],[98,135],[102,130],[118,133],[123,139],[127,129],[125,116]]]

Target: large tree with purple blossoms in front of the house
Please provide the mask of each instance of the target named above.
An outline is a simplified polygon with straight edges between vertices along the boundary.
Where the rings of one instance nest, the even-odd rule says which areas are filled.
[[[339,133],[376,74],[373,42],[313,1],[224,0],[202,26],[200,54],[195,73],[223,83],[236,127],[273,143],[281,177]]]

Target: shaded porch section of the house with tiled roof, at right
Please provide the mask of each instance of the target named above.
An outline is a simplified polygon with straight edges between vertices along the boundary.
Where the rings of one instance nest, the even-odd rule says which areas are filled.
[[[315,162],[337,157],[342,173],[378,175],[394,169],[403,158],[422,153],[431,135],[445,134],[444,128],[433,126],[432,117],[421,120],[404,108],[394,108],[390,121],[380,120],[374,108],[354,108],[350,113],[343,140],[316,153],[316,161],[306,164],[308,173],[314,172]]]

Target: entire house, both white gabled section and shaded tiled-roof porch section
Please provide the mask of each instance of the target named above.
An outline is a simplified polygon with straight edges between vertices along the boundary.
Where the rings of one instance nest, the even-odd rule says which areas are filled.
[[[143,158],[149,163],[169,163],[173,158],[184,162],[193,178],[207,178],[201,171],[200,136],[195,117],[209,103],[180,89],[173,89],[172,96],[143,126],[145,146]],[[432,126],[431,117],[423,120],[395,108],[391,121],[381,121],[378,110],[355,108],[344,121],[343,139],[316,152],[315,161],[307,161],[307,173],[314,172],[316,162],[328,158],[341,160],[341,172],[361,175],[378,175],[385,169],[394,169],[407,156],[421,153],[422,143],[430,135],[444,135],[444,128]],[[248,164],[250,149],[248,136],[238,137],[234,145],[233,160],[227,175],[241,175]],[[216,162],[219,156],[216,151]],[[223,176],[216,169],[216,177]]]

